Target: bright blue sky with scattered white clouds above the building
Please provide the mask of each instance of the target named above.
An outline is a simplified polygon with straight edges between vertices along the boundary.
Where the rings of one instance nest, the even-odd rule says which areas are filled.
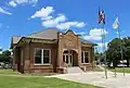
[[[49,27],[63,32],[70,28],[100,45],[99,7],[106,15],[106,42],[116,37],[116,14],[121,36],[126,37],[130,35],[129,5],[129,0],[0,0],[0,47],[9,49],[13,35],[25,36]]]

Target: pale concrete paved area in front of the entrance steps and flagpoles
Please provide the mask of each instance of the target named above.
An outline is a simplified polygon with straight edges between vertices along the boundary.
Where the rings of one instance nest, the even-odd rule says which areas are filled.
[[[73,80],[83,84],[91,84],[94,86],[101,86],[105,88],[130,88],[130,74],[123,76],[122,73],[117,73],[117,77],[113,72],[108,72],[108,78],[104,76],[104,72],[88,72],[77,74],[61,74],[47,77],[56,77],[66,80]]]

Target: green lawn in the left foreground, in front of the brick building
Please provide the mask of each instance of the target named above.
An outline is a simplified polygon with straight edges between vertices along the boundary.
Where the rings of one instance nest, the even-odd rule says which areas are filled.
[[[0,70],[0,74],[21,75],[11,70]],[[2,76],[0,75],[0,88],[102,88],[87,84],[74,83],[58,78]]]

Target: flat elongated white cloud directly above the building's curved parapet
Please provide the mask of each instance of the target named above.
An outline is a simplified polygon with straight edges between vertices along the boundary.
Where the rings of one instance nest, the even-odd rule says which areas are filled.
[[[56,25],[56,27],[60,29],[70,28],[70,26],[81,28],[84,27],[86,24],[83,22],[65,22]]]

